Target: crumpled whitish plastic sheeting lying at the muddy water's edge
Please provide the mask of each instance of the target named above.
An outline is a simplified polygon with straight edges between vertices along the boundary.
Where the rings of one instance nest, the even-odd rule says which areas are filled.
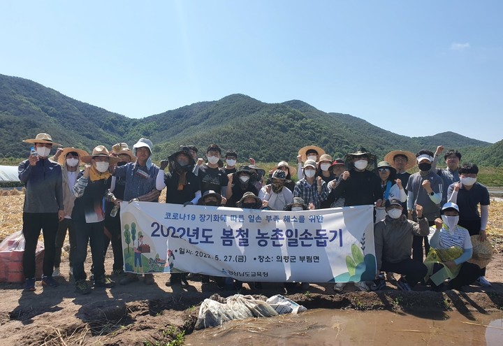
[[[253,296],[235,294],[219,301],[205,299],[199,309],[198,320],[194,329],[204,329],[210,326],[221,326],[233,319],[251,317],[271,317],[280,314],[302,312],[307,310],[284,296],[277,294],[260,301]]]

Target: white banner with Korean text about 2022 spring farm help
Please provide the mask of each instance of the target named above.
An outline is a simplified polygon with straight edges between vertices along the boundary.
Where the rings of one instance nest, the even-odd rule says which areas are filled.
[[[284,212],[122,203],[124,271],[253,282],[373,280],[373,206]]]

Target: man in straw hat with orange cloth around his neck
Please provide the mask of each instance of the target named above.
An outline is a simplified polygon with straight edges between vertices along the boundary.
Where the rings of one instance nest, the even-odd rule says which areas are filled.
[[[115,282],[105,276],[105,249],[103,232],[105,215],[103,197],[108,197],[112,175],[108,168],[119,159],[110,157],[103,145],[98,145],[91,155],[81,157],[87,164],[78,175],[73,187],[75,205],[72,211],[73,227],[77,247],[73,266],[75,291],[88,294],[91,289],[86,282],[84,262],[87,257],[87,244],[91,247],[94,287],[113,287]]]

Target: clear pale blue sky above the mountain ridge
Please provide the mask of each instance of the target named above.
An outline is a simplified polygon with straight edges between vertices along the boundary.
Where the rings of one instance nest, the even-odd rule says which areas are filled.
[[[4,0],[0,73],[128,117],[241,93],[494,143],[502,13],[503,1]]]

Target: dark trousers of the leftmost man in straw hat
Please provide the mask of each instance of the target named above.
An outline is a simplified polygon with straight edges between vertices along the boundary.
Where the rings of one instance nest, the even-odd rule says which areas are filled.
[[[57,212],[23,212],[23,273],[27,279],[35,277],[35,252],[41,229],[44,239],[43,275],[52,276],[57,227]]]

